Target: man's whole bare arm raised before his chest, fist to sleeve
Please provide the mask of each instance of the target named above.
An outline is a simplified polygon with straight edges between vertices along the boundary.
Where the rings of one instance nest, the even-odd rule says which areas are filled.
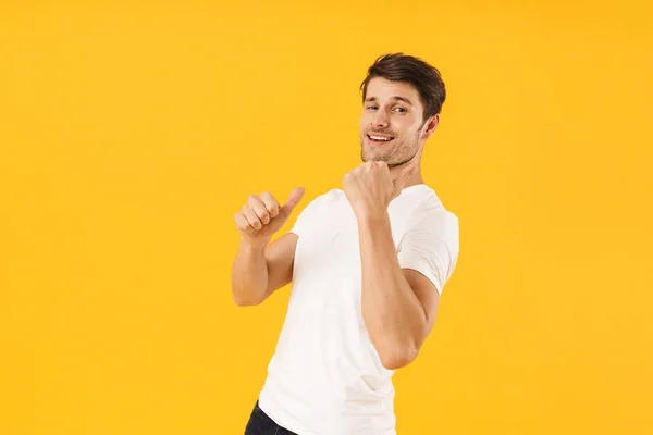
[[[343,177],[358,223],[362,320],[381,363],[390,370],[415,360],[440,301],[429,278],[401,268],[387,212],[417,167],[411,163],[391,173],[385,162],[367,161]]]

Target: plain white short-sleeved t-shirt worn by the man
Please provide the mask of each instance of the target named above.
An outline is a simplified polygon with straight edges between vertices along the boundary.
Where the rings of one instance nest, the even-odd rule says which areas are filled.
[[[389,206],[402,268],[439,293],[458,258],[458,219],[424,184]],[[299,435],[394,435],[394,371],[385,369],[361,313],[358,224],[341,189],[311,201],[292,229],[292,294],[259,406]]]

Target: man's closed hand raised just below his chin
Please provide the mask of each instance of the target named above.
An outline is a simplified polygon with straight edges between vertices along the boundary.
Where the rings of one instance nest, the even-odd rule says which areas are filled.
[[[416,169],[417,165],[409,164],[391,175],[387,163],[365,162],[346,173],[343,188],[356,216],[386,212]]]

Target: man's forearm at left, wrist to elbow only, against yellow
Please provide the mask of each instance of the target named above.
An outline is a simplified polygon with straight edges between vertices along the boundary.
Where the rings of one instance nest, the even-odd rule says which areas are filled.
[[[232,268],[232,293],[238,306],[257,304],[264,298],[269,277],[267,245],[241,240]]]

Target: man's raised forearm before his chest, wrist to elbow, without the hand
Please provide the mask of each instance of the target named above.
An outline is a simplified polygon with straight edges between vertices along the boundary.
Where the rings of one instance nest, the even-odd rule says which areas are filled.
[[[362,268],[362,318],[385,366],[416,355],[427,315],[402,273],[387,213],[358,219]]]

